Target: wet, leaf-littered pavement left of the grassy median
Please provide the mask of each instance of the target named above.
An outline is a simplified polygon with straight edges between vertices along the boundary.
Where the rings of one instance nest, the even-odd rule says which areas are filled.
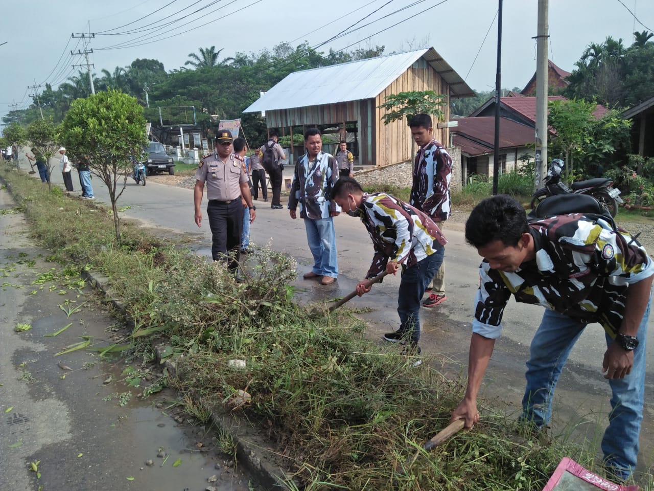
[[[0,191],[0,490],[248,490],[214,433],[188,424],[169,401],[173,393],[141,401],[145,377],[130,387],[124,361],[88,350],[56,355],[82,336],[107,346],[114,321],[88,285],[44,260],[13,207]]]

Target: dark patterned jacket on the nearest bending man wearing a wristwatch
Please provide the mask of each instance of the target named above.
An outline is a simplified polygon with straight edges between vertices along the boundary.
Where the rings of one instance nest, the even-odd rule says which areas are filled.
[[[517,302],[542,305],[582,323],[598,322],[615,337],[628,285],[654,274],[644,247],[605,221],[579,213],[543,218],[530,227],[534,261],[515,272],[492,270],[487,261],[479,266],[473,332],[500,336],[502,313],[513,294]]]

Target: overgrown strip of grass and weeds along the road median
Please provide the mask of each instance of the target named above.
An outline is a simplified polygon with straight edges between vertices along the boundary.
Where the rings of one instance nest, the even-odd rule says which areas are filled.
[[[133,321],[132,350],[148,352],[155,339],[167,346],[177,365],[170,382],[186,401],[232,409],[247,387],[251,399],[241,397],[234,414],[268,437],[293,476],[290,488],[536,490],[562,456],[594,467],[593,446],[545,445],[487,413],[473,431],[405,468],[447,426],[464,381],[430,363],[411,369],[397,346],[364,339],[365,326],[347,312],[298,306],[288,286],[294,261],[268,247],[256,249],[246,282],[236,283],[221,263],[135,227],[124,226],[116,244],[111,211],[48,194],[22,173],[1,175],[50,259],[109,278]]]

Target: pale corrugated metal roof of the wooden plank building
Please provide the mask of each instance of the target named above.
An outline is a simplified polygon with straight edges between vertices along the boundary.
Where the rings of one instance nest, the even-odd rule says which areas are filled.
[[[438,52],[428,48],[290,73],[243,112],[375,98],[421,56],[449,84],[452,97],[473,95],[468,84]]]

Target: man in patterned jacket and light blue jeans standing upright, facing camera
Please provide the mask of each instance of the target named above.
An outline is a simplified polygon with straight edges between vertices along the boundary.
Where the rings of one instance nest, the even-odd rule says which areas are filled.
[[[331,285],[338,278],[338,258],[334,217],[340,213],[330,190],[338,179],[338,164],[334,156],[322,151],[322,136],[318,128],[309,128],[304,134],[307,153],[298,159],[288,197],[292,219],[304,219],[307,242],[313,255],[313,268],[304,274],[309,280],[322,276],[322,285]],[[273,198],[273,204],[274,204]]]

